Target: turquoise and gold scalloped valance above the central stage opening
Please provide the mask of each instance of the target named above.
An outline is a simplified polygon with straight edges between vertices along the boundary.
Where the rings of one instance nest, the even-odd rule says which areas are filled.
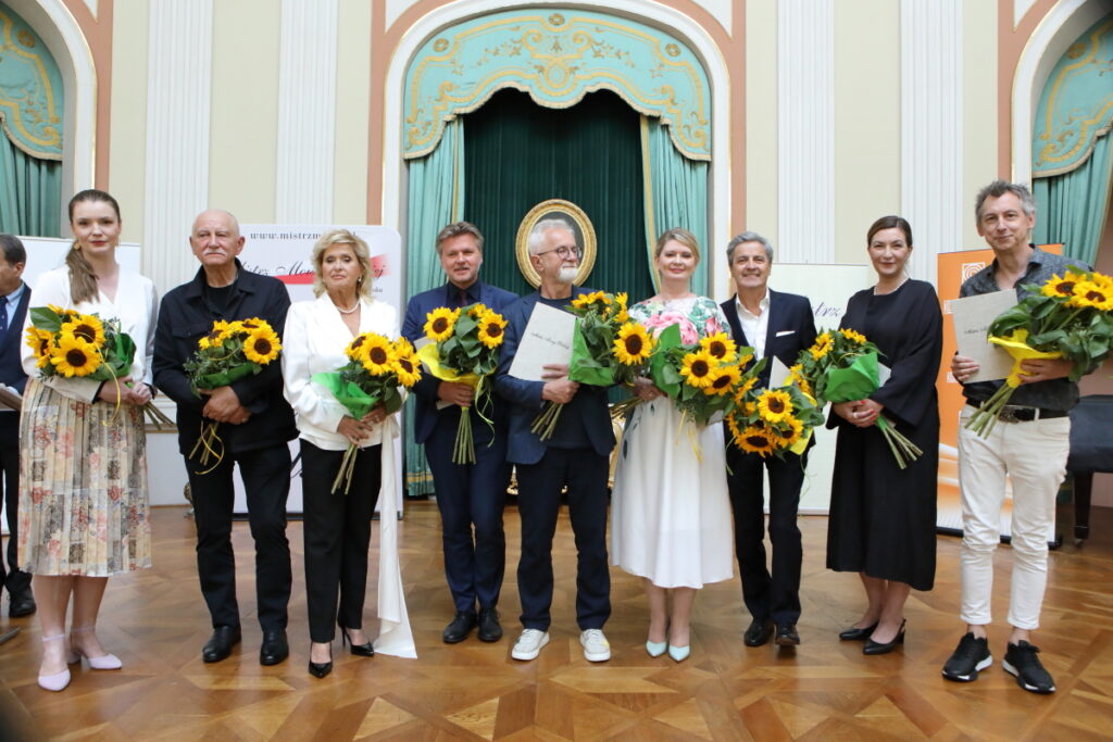
[[[430,38],[406,73],[403,156],[436,149],[445,121],[503,88],[549,108],[611,90],[669,125],[686,157],[711,159],[710,87],[696,55],[658,29],[569,9],[493,13]]]

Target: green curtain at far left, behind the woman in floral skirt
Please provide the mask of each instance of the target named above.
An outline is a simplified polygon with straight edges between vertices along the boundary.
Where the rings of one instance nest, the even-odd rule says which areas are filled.
[[[59,237],[62,164],[18,149],[0,131],[0,231]]]

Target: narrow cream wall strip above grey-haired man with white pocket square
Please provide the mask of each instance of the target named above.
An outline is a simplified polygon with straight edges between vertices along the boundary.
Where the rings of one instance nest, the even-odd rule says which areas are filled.
[[[746,3],[746,222],[735,215],[733,231],[756,231],[777,241],[777,2]]]

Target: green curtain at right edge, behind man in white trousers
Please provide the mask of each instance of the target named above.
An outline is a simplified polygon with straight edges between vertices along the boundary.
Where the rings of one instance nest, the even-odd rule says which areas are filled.
[[[1106,135],[1094,141],[1093,154],[1080,167],[1033,181],[1037,245],[1063,243],[1063,255],[1094,265],[1109,211],[1110,166]]]

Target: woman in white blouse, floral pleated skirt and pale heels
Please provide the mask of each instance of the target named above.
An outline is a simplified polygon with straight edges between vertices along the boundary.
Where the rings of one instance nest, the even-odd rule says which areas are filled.
[[[119,319],[136,343],[136,356],[130,376],[119,384],[78,376],[40,379],[37,354],[23,347],[29,380],[20,418],[19,564],[35,575],[43,649],[39,685],[49,691],[69,684],[67,665],[82,656],[93,670],[121,666],[96,634],[100,601],[110,575],[150,566],[141,406],[151,398],[155,285],[116,263],[116,199],[81,191],[70,201],[69,216],[75,240],[66,265],[39,277],[31,306]]]

